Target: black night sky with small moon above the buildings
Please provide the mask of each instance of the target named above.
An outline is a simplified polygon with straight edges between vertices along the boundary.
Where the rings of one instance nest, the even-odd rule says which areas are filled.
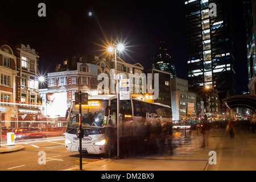
[[[46,17],[38,4],[46,4]],[[234,2],[234,1],[233,1]],[[234,2],[234,47],[239,89],[246,86],[247,60],[242,4]],[[93,15],[89,16],[89,11]],[[184,1],[2,1],[0,40],[30,44],[39,53],[39,71],[53,72],[67,56],[101,54],[106,39],[126,45],[120,57],[150,69],[160,42],[166,42],[177,69],[187,79]],[[239,22],[239,23],[237,23]],[[105,35],[105,36],[104,36]]]

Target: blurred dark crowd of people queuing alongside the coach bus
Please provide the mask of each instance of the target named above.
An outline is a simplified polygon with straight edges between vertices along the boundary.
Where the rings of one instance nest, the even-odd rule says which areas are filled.
[[[107,126],[108,128],[108,126]],[[171,133],[171,125],[163,126],[159,119],[152,122],[125,121],[121,125],[119,151],[122,157],[137,155],[161,154],[164,151],[164,140]],[[117,129],[109,126],[106,129],[106,157],[116,155]]]

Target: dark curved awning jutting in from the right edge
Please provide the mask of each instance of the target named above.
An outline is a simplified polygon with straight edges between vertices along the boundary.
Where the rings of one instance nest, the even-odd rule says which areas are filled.
[[[256,97],[248,95],[238,95],[224,98],[224,104],[229,109],[234,109],[237,107],[245,107],[252,110],[256,114]]]

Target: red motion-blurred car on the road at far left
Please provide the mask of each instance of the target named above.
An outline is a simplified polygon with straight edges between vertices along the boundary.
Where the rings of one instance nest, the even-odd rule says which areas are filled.
[[[7,130],[6,133],[13,132],[15,139],[26,138],[46,138],[46,133],[36,129],[35,127],[13,127]]]

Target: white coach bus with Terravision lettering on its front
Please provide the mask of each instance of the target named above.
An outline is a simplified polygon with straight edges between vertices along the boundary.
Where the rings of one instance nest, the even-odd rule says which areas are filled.
[[[82,105],[81,109],[81,125],[84,130],[82,152],[103,154],[106,152],[110,140],[112,140],[112,143],[113,138],[114,142],[117,141],[117,96],[99,95],[88,99],[88,105]],[[131,121],[143,125],[144,123],[149,123],[151,127],[150,133],[154,133],[155,130],[152,129],[158,128],[162,138],[171,135],[172,111],[170,106],[134,98],[119,102],[119,113],[122,114],[120,119],[120,125],[122,126],[120,129],[121,137],[125,136],[124,124]],[[71,104],[67,120],[65,147],[68,151],[79,152],[79,138],[76,135],[79,128],[79,105],[75,105],[75,101]],[[115,137],[109,139],[109,133]],[[143,133],[142,130],[133,132],[134,135],[140,135],[141,133]]]

